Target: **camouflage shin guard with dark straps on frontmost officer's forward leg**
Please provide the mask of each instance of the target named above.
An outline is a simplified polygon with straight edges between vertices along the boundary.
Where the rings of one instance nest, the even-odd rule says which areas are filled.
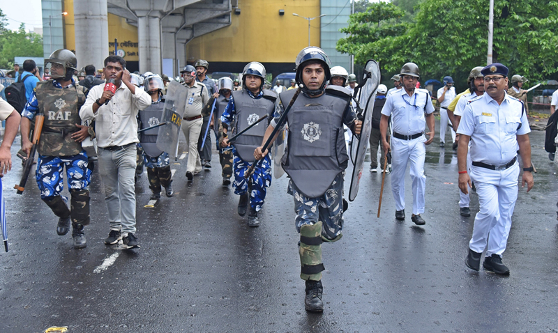
[[[322,222],[301,226],[301,279],[319,281],[322,271]]]

